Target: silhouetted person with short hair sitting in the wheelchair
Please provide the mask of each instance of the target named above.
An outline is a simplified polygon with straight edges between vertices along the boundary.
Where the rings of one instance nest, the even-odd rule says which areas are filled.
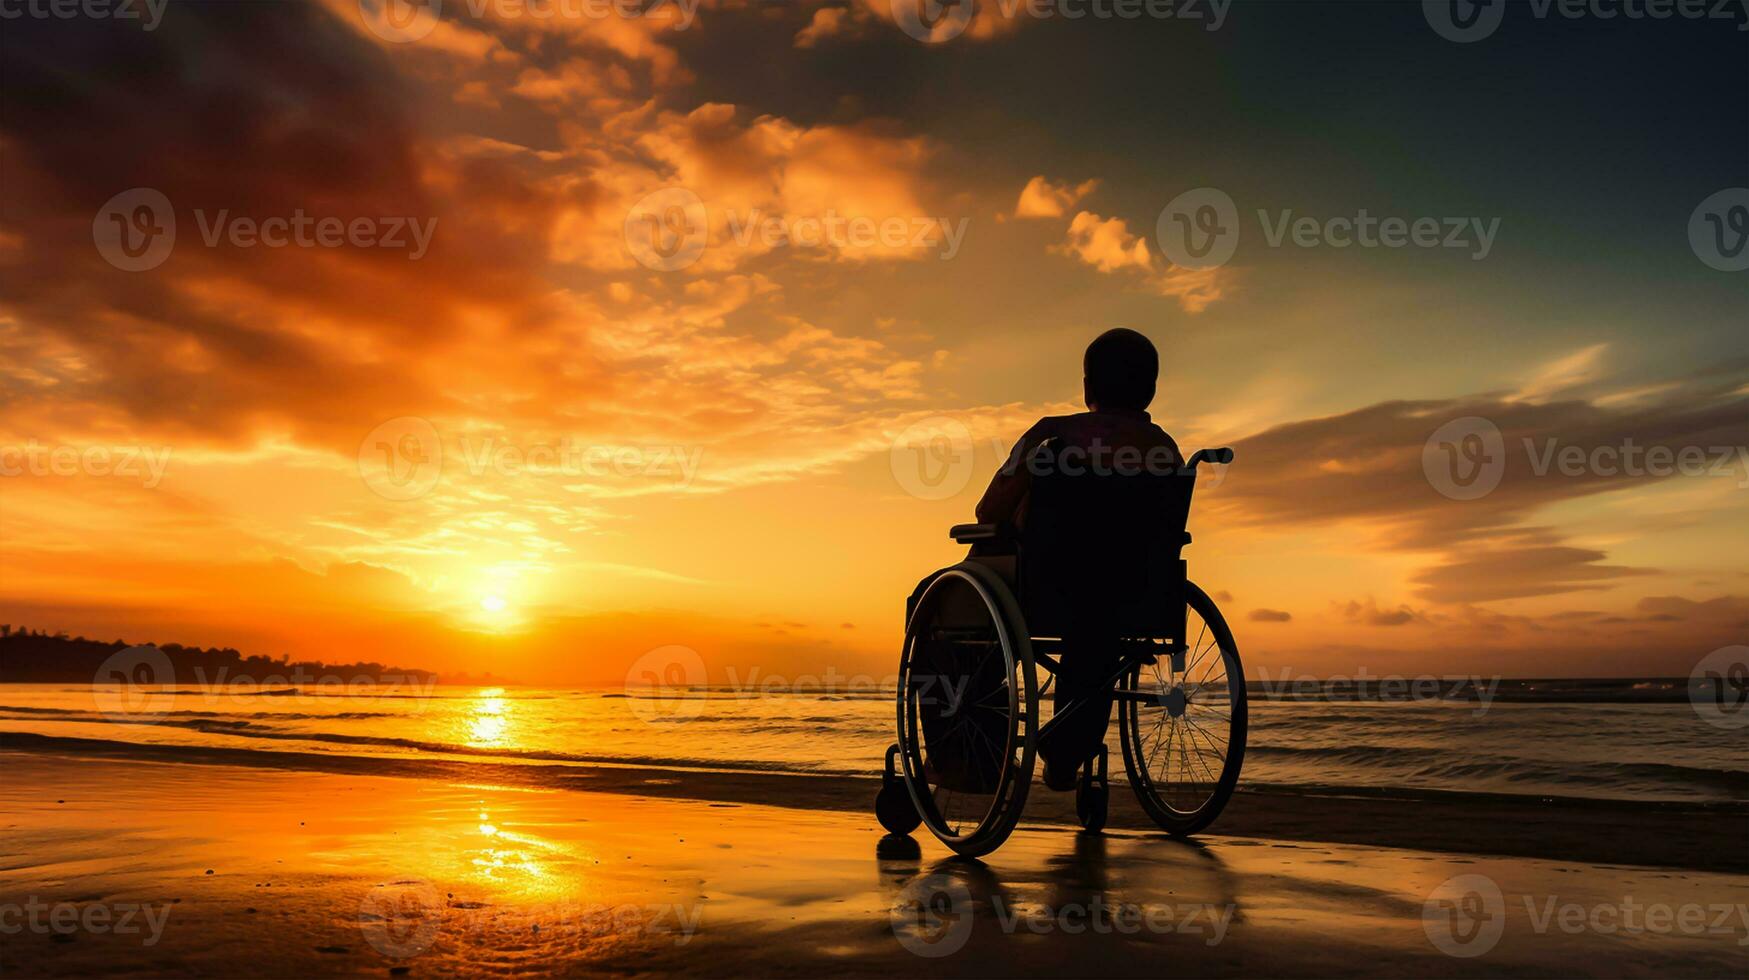
[[[1146,336],[1123,327],[1105,331],[1088,345],[1081,366],[1088,411],[1041,418],[1021,436],[978,500],[979,523],[1007,523],[1025,539],[1028,490],[1037,467],[1032,460],[1041,448],[1053,457],[1046,466],[1062,466],[1065,472],[1069,460],[1083,469],[1123,469],[1125,460],[1135,460],[1153,472],[1184,464],[1179,444],[1147,416],[1160,354]],[[1070,700],[1086,704],[1063,718],[1039,747],[1044,782],[1051,789],[1074,789],[1076,772],[1105,737],[1111,688],[1104,681],[1118,665],[1114,637],[1091,630],[1063,640],[1053,704],[1058,710]]]

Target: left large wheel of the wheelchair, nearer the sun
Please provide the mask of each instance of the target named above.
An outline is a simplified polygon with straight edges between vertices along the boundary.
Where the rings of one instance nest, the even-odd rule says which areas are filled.
[[[1013,831],[1025,805],[1027,786],[1032,780],[1037,682],[1032,667],[1030,644],[1025,630],[1018,630],[1018,609],[1006,586],[981,567],[957,565],[946,569],[916,602],[916,611],[906,628],[904,654],[899,667],[899,760],[906,788],[918,816],[943,844],[960,854],[983,854],[995,849]],[[943,677],[923,644],[939,642],[930,637],[932,620],[948,590],[969,588],[983,604],[988,618],[988,637],[965,637],[962,642],[983,644],[985,663],[993,665],[992,679],[999,682],[958,684]],[[957,718],[943,721],[944,704]],[[934,718],[927,718],[936,712]],[[957,728],[955,728],[957,724]],[[944,726],[944,728],[943,728]],[[957,735],[951,747],[930,746],[930,732]],[[999,732],[997,738],[993,733]],[[972,758],[976,754],[976,758]],[[951,758],[950,758],[951,756]],[[953,786],[943,770],[951,763],[995,763],[999,775],[992,786]]]

